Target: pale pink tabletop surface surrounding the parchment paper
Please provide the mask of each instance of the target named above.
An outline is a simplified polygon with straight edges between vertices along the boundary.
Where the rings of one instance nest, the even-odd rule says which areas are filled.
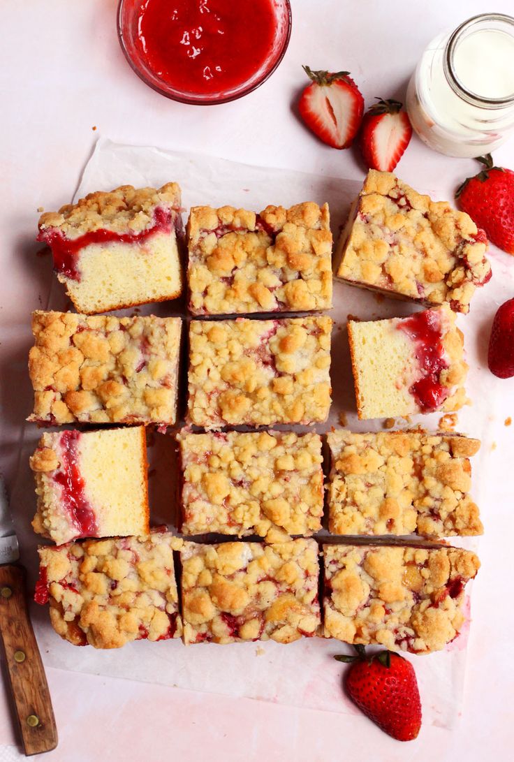
[[[12,481],[19,428],[30,389],[26,356],[30,310],[49,280],[46,258],[35,258],[37,207],[51,210],[72,196],[99,134],[119,142],[207,152],[240,162],[362,178],[356,154],[316,142],[299,124],[291,103],[302,84],[302,63],[314,69],[350,69],[366,95],[404,96],[421,50],[445,27],[490,10],[483,2],[292,0],[293,34],[279,70],[254,94],[233,104],[200,109],[174,104],[132,74],[114,26],[117,3],[89,0],[2,2],[3,277],[2,472]],[[512,2],[496,2],[512,12]],[[97,130],[92,130],[97,126]],[[496,152],[514,168],[514,139]],[[447,197],[474,172],[474,162],[445,158],[413,139],[399,174],[414,187],[439,187]],[[497,255],[508,260],[507,255]],[[514,267],[514,261],[512,261]],[[514,296],[514,294],[512,294]],[[484,315],[487,337],[492,315]],[[504,759],[512,748],[512,680],[507,655],[512,578],[507,530],[512,527],[514,386],[484,372],[497,448],[490,489],[481,505],[486,535],[482,569],[474,584],[468,680],[461,722],[452,732],[423,727],[410,744],[392,741],[360,716],[231,700],[166,687],[48,670],[59,748],[55,760],[157,760],[171,755],[203,760],[450,760]],[[14,507],[15,508],[15,507]],[[43,654],[44,658],[44,654]],[[304,667],[299,664],[299,669]],[[0,689],[5,691],[5,689]],[[425,703],[430,697],[423,696]],[[5,692],[0,693],[0,760],[16,758],[16,738]],[[2,748],[2,744],[5,748]],[[3,755],[3,756],[2,756]]]

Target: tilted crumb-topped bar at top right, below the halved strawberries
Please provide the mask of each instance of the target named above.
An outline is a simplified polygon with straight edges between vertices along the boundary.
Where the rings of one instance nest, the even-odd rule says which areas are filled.
[[[336,274],[354,286],[469,312],[475,289],[491,277],[486,250],[486,235],[468,214],[372,169],[337,245]]]

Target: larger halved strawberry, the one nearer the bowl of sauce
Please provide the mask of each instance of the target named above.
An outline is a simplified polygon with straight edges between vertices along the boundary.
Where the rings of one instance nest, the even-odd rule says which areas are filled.
[[[302,119],[327,145],[348,148],[364,111],[364,98],[350,72],[313,72],[308,66],[303,69],[312,82],[300,97]]]

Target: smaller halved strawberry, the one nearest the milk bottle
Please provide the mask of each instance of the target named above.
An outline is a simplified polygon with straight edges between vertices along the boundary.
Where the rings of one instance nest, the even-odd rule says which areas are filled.
[[[412,126],[400,101],[377,98],[362,120],[359,144],[370,169],[391,172],[412,137]]]

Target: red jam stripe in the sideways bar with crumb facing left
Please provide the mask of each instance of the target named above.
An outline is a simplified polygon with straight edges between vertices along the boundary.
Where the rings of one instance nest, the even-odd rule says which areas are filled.
[[[61,467],[53,479],[62,487],[62,502],[81,537],[94,537],[98,527],[94,511],[85,496],[85,481],[78,469],[77,443],[79,431],[63,431],[59,441],[62,450]]]

